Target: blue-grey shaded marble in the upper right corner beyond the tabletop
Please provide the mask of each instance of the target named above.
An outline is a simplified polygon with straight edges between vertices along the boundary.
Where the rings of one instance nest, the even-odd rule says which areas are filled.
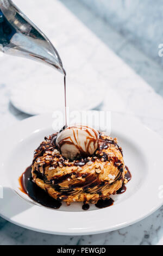
[[[156,62],[163,64],[158,46],[162,43],[162,0],[80,0],[116,31],[133,42]]]

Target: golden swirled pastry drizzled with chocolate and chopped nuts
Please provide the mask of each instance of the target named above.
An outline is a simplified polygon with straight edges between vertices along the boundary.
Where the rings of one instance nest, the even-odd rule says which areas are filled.
[[[121,188],[126,169],[117,139],[99,132],[92,156],[67,160],[56,145],[57,134],[45,137],[35,150],[32,177],[49,196],[71,202],[97,203]]]

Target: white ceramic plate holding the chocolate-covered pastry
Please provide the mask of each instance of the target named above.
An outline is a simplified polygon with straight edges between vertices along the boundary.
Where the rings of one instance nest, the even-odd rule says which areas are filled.
[[[96,234],[133,224],[152,214],[162,205],[163,141],[137,119],[113,114],[112,136],[118,137],[124,160],[132,174],[124,194],[114,196],[114,205],[89,211],[82,204],[63,204],[59,210],[35,204],[18,189],[18,177],[33,159],[33,151],[46,135],[50,135],[51,114],[21,121],[1,133],[0,215],[22,227],[61,235]],[[16,193],[15,193],[16,192]]]

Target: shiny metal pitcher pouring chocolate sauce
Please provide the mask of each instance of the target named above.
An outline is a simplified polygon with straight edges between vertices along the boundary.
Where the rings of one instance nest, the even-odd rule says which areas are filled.
[[[51,41],[11,0],[0,0],[0,51],[43,62],[65,75]]]

